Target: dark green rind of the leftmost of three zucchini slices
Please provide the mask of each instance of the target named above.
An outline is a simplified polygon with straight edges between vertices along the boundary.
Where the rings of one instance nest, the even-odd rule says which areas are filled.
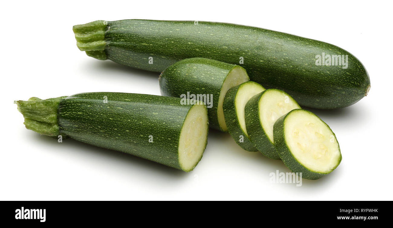
[[[224,102],[222,103],[222,107],[224,109],[224,118],[226,127],[228,127],[228,132],[235,140],[237,145],[247,151],[257,151],[254,143],[251,141],[250,137],[244,134],[242,128],[240,127],[239,120],[237,119],[237,112],[235,107],[235,96],[237,90],[242,84],[232,87],[226,92],[224,97]],[[245,116],[244,116],[245,117]],[[246,127],[247,128],[247,127]],[[240,142],[240,136],[243,136],[244,141]]]

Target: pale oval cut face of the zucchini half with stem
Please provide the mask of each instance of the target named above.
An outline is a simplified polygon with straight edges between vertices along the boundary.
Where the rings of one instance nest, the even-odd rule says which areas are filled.
[[[208,116],[204,105],[188,111],[179,138],[179,163],[185,171],[192,170],[201,158],[208,137]]]

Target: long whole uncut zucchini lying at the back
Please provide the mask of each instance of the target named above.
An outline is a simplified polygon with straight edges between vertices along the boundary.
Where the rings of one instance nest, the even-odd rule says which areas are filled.
[[[370,88],[367,71],[351,53],[267,29],[218,22],[119,20],[75,25],[73,31],[77,46],[88,56],[147,71],[162,72],[193,57],[241,64],[250,80],[282,89],[311,108],[352,105]]]

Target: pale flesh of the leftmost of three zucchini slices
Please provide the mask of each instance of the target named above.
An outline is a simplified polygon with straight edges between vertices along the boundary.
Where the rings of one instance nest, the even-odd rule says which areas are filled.
[[[235,108],[236,108],[236,116],[239,121],[240,127],[242,128],[244,134],[248,137],[247,129],[246,129],[246,121],[244,119],[244,107],[246,107],[246,103],[250,100],[254,95],[263,92],[265,88],[262,85],[250,81],[249,83],[243,83],[239,86],[235,96]]]

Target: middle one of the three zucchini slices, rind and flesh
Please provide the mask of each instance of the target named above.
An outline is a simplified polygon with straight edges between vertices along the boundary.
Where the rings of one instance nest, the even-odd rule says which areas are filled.
[[[261,153],[280,159],[274,147],[273,125],[292,109],[300,109],[296,101],[283,90],[267,89],[253,96],[244,108],[248,136]]]

